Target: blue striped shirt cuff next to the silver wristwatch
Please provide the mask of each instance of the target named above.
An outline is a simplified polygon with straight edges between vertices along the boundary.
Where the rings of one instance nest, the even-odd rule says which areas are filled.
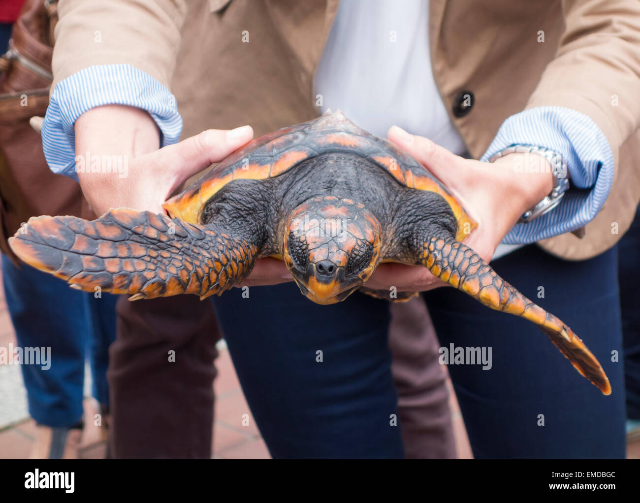
[[[570,189],[556,208],[516,224],[504,244],[526,244],[579,229],[604,205],[613,183],[611,146],[588,116],[564,107],[536,107],[509,117],[481,160],[513,145],[550,148],[566,160]]]

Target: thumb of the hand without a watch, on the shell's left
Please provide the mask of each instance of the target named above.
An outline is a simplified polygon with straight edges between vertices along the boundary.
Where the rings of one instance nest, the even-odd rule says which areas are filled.
[[[241,126],[232,130],[207,129],[200,134],[168,145],[153,155],[165,166],[179,171],[184,180],[202,171],[214,162],[225,159],[253,137],[251,126]]]

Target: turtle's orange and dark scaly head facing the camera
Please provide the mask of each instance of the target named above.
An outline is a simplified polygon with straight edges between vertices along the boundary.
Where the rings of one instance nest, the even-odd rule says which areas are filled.
[[[289,216],[283,258],[305,296],[334,304],[371,277],[380,261],[380,243],[380,222],[364,205],[314,197]]]

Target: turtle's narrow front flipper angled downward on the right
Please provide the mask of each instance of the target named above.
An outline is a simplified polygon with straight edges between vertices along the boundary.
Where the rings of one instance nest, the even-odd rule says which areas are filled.
[[[580,337],[563,321],[504,281],[470,247],[454,238],[429,238],[424,241],[419,259],[433,275],[468,293],[484,306],[536,323],[580,374],[603,394],[611,394],[611,385],[602,366]]]

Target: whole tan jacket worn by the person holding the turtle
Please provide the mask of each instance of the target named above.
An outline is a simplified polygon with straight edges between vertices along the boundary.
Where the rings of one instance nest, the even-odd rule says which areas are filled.
[[[313,75],[337,6],[60,0],[54,84],[89,65],[129,63],[172,89],[184,135],[246,123],[263,134],[319,113]],[[614,155],[611,193],[584,238],[566,234],[540,245],[567,259],[614,245],[640,199],[640,1],[431,0],[429,35],[436,84],[474,157],[526,108],[558,105],[595,121]],[[474,105],[456,117],[463,90]]]

